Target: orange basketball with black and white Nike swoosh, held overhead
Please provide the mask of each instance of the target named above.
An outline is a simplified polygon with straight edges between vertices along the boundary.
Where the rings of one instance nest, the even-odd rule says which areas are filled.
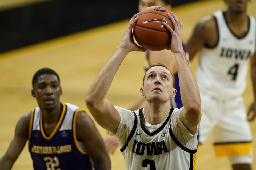
[[[139,45],[151,51],[161,51],[171,45],[171,33],[162,25],[163,21],[173,29],[173,23],[167,15],[170,12],[164,7],[151,6],[138,14],[133,34]]]

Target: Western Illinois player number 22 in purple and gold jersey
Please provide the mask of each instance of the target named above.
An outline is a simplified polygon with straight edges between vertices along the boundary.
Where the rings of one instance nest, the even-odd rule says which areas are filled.
[[[11,169],[29,141],[35,170],[110,170],[109,155],[93,120],[77,106],[59,101],[62,90],[58,74],[40,69],[32,86],[38,107],[18,121],[14,139],[0,159],[1,169]]]

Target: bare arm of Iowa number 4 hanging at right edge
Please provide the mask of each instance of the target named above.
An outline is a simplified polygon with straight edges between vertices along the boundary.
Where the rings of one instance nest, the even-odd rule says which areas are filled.
[[[256,53],[251,58],[251,80],[253,82],[254,101],[248,111],[247,118],[249,121],[254,120],[256,117]]]

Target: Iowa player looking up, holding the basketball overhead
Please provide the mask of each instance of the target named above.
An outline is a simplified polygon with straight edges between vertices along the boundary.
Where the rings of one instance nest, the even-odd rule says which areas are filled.
[[[168,14],[174,31],[162,23],[172,35],[169,50],[175,54],[181,98],[184,107],[171,108],[175,97],[174,79],[163,65],[151,67],[143,79],[141,95],[145,107],[129,111],[113,106],[105,99],[111,82],[122,61],[130,51],[145,51],[133,42],[131,29],[138,14],[130,20],[120,45],[103,66],[86,94],[91,114],[106,130],[115,134],[125,158],[126,169],[195,169],[197,130],[201,119],[199,90],[182,49],[182,24]]]

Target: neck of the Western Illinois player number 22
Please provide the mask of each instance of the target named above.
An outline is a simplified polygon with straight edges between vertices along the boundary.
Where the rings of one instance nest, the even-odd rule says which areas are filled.
[[[43,122],[46,124],[57,123],[61,117],[62,109],[63,106],[60,102],[53,110],[41,109]]]

